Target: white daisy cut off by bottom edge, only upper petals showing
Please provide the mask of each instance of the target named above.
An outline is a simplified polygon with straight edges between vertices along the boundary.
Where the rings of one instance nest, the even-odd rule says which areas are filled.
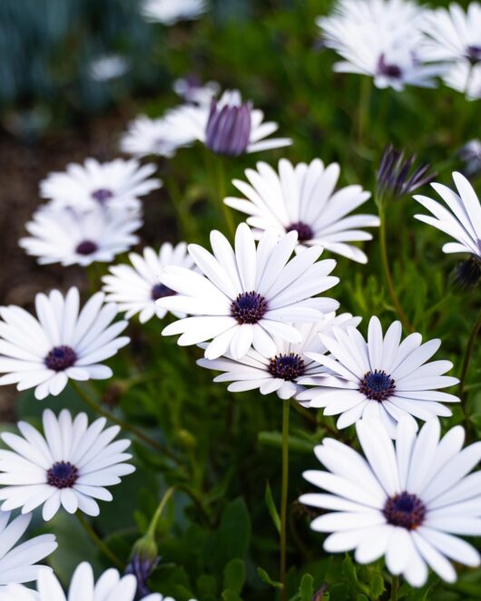
[[[108,569],[95,582],[92,566],[84,561],[75,568],[68,593],[54,573],[38,578],[37,590],[25,586],[7,586],[0,591],[0,601],[134,601],[137,581],[132,575],[121,576],[116,569]],[[159,593],[142,597],[142,601],[174,601],[172,596]]]

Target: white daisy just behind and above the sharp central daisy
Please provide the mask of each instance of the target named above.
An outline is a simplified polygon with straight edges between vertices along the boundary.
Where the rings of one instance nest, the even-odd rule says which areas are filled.
[[[370,240],[372,236],[360,228],[378,227],[376,215],[348,215],[370,198],[360,186],[347,186],[335,191],[339,165],[327,167],[315,159],[309,165],[295,167],[289,160],[279,161],[279,173],[264,162],[257,170],[246,170],[249,183],[234,179],[234,186],[246,199],[227,198],[226,205],[247,213],[247,223],[254,236],[274,228],[280,236],[295,229],[298,247],[321,246],[330,252],[367,263],[368,257],[348,242]]]

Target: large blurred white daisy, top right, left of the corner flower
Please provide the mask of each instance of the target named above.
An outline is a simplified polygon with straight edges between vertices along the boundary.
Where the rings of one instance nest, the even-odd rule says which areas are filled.
[[[435,78],[446,71],[422,52],[424,15],[412,2],[348,0],[317,23],[324,44],[344,59],[335,71],[369,75],[378,88],[399,92],[405,85],[436,87]]]

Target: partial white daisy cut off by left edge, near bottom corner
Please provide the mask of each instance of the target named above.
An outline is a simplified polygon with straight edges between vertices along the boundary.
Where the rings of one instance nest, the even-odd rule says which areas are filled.
[[[10,516],[10,511],[0,512],[0,593],[5,590],[5,585],[31,582],[42,570],[50,571],[50,567],[39,566],[36,562],[57,548],[53,534],[30,538],[15,547],[24,536],[32,514],[17,516],[8,523]]]

